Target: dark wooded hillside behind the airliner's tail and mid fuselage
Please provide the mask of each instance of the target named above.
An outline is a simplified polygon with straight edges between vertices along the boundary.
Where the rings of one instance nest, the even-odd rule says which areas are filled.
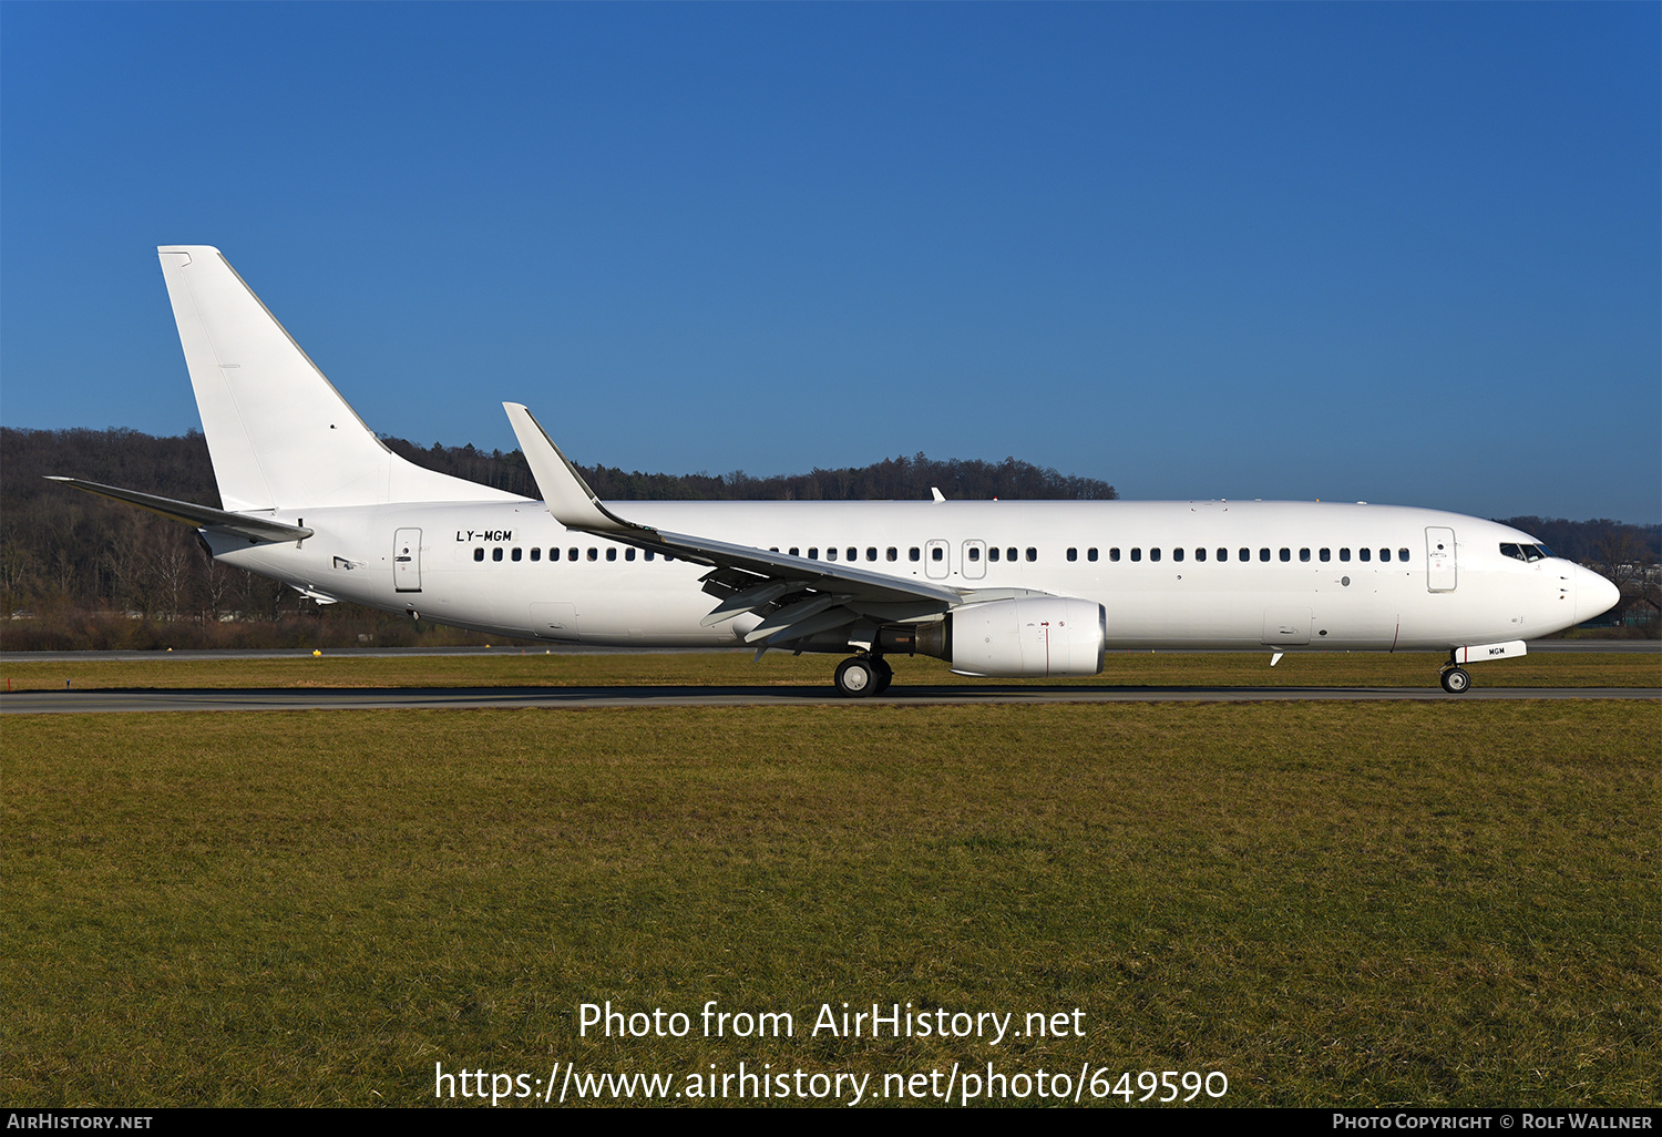
[[[422,447],[394,437],[382,442],[430,470],[538,495],[519,450]],[[1030,462],[936,460],[924,454],[776,477],[578,469],[608,500],[927,499],[931,487],[952,499],[1117,497],[1107,482]],[[5,650],[409,647],[489,638],[349,603],[321,608],[286,585],[214,562],[186,525],[48,482],[48,474],[219,505],[208,442],[198,431],[155,437],[126,429],[0,427],[0,647]]]

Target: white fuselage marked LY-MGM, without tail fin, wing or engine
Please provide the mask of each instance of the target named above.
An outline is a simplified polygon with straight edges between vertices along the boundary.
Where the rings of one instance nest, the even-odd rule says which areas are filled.
[[[1534,539],[1426,509],[1326,502],[627,502],[630,519],[951,588],[1097,602],[1109,647],[1446,650],[1529,640],[1609,607]],[[736,645],[700,620],[706,565],[567,530],[540,502],[276,510],[314,530],[228,564],[319,598],[485,632],[640,647]],[[1438,549],[1439,544],[1446,547]],[[402,560],[401,560],[402,557]],[[1594,583],[1597,582],[1597,583]]]

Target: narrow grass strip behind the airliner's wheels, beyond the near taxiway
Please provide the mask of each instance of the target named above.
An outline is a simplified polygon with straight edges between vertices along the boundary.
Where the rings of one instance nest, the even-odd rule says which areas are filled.
[[[324,653],[314,658],[141,662],[8,662],[12,690],[241,688],[241,687],[755,687],[829,688],[839,657],[750,652],[647,655],[525,655],[374,658]],[[1079,680],[974,680],[931,658],[896,658],[896,683],[1070,683],[1079,687],[1419,687],[1438,683],[1439,655],[1288,653],[1270,667],[1266,652],[1109,655],[1102,675]],[[1635,653],[1536,653],[1471,667],[1481,687],[1662,687],[1662,657]]]

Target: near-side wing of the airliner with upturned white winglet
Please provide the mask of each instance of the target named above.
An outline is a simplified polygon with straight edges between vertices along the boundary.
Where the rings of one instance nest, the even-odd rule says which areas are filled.
[[[705,617],[705,625],[730,620],[741,612],[763,615],[763,622],[745,635],[746,643],[760,642],[763,650],[863,618],[874,623],[927,620],[969,600],[1014,595],[1007,588],[996,590],[997,597],[987,590],[964,592],[927,580],[889,577],[854,565],[791,557],[711,537],[670,534],[625,520],[595,497],[583,475],[529,409],[517,402],[504,402],[502,407],[557,522],[567,529],[710,565],[705,592],[721,597],[721,603]]]

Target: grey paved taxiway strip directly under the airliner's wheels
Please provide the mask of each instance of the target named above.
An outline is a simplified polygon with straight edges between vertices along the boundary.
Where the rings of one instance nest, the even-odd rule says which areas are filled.
[[[829,687],[402,687],[268,690],[95,690],[0,695],[8,715],[223,710],[467,710],[595,706],[936,706],[996,703],[1263,703],[1263,701],[1487,701],[1519,698],[1662,700],[1655,687],[1486,687],[1444,695],[1433,687],[894,687],[863,700],[838,698]]]

